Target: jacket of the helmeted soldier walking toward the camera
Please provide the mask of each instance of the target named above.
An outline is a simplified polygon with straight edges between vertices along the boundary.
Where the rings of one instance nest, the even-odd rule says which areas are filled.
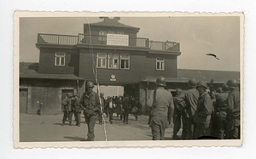
[[[90,94],[88,94],[88,92],[85,92],[80,99],[80,104],[86,110],[101,110],[100,99],[94,91],[91,91]]]

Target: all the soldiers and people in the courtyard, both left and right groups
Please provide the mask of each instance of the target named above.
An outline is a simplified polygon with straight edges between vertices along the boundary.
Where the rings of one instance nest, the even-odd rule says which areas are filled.
[[[214,135],[218,139],[240,139],[240,89],[236,80],[230,79],[222,88],[218,88],[214,98],[207,83],[195,79],[189,80],[188,90],[183,92],[177,89],[174,97],[165,89],[165,77],[158,77],[155,83],[157,86],[147,99],[147,105],[151,107],[148,124],[153,140],[164,139],[172,118],[173,139],[179,139],[177,133],[181,125],[181,139],[201,139]],[[68,119],[72,125],[74,114],[76,125],[80,126],[80,113],[84,111],[88,126],[87,140],[95,139],[96,116],[102,124],[102,115],[106,113],[112,124],[113,112],[116,112],[117,117],[120,116],[120,120],[128,124],[130,113],[134,114],[136,120],[141,115],[141,104],[137,98],[125,94],[124,98],[108,96],[108,99],[104,99],[104,94],[96,94],[93,88],[93,82],[87,82],[87,90],[80,99],[78,95],[67,94],[62,101],[63,124]]]

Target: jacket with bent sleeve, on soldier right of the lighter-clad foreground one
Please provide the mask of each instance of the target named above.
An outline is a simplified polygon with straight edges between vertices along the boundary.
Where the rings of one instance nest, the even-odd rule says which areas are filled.
[[[196,88],[191,88],[185,91],[179,98],[177,98],[177,104],[183,106],[186,110],[186,117],[193,118],[193,116],[195,116],[198,98],[199,92]]]

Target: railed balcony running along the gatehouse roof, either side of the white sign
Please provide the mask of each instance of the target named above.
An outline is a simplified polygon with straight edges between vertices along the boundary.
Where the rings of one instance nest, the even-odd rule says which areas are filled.
[[[107,36],[100,35],[58,35],[38,33],[38,44],[59,44],[59,45],[77,45],[79,43],[93,45],[107,45]],[[150,48],[151,50],[169,50],[179,51],[179,43],[175,42],[157,42],[148,38],[129,37],[128,46]]]

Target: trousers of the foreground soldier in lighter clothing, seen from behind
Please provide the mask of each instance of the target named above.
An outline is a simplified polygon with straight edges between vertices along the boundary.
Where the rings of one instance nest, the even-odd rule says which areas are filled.
[[[167,116],[152,116],[150,127],[153,140],[164,140],[167,128]]]

